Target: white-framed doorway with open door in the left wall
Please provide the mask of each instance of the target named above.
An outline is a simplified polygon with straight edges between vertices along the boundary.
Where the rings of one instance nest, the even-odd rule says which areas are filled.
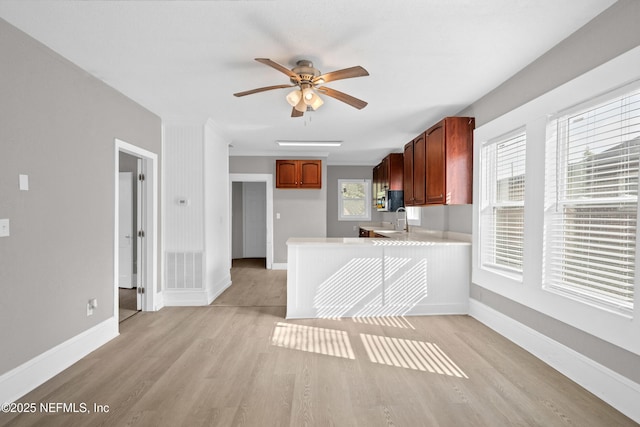
[[[157,155],[115,140],[114,316],[154,311]]]

